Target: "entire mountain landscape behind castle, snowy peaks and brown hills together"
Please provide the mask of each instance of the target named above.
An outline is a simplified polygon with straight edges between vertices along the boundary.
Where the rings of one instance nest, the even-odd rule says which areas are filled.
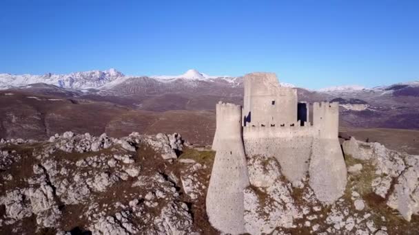
[[[351,135],[371,128],[419,130],[419,81],[296,89],[301,101],[340,102],[340,128]],[[243,104],[243,77],[209,76],[194,69],[178,76],[126,76],[116,69],[0,74],[0,137],[38,139],[67,130],[120,137],[132,130],[173,130],[192,142],[210,144],[219,100]],[[417,145],[418,139],[415,134],[411,143]]]

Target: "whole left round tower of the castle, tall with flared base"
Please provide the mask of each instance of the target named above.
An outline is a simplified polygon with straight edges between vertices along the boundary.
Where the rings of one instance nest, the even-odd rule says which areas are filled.
[[[245,233],[243,190],[249,186],[242,139],[241,106],[216,105],[216,155],[206,207],[210,223],[226,234]]]

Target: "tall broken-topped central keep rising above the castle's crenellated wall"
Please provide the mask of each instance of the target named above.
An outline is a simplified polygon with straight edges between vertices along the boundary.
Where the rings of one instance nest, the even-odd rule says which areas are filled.
[[[272,73],[246,74],[244,80],[244,126],[287,126],[297,121],[296,89],[280,87]]]

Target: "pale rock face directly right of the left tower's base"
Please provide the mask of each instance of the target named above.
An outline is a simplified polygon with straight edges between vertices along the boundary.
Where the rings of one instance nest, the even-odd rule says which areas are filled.
[[[294,227],[302,212],[292,198],[292,185],[283,181],[273,157],[249,157],[251,187],[245,189],[245,228],[250,234],[271,234],[276,227]]]

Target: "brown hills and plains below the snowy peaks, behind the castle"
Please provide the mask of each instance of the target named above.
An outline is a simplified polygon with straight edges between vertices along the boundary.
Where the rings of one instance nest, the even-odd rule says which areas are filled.
[[[341,133],[378,141],[394,150],[418,154],[419,91],[393,85],[385,89],[317,92],[297,89],[307,102],[338,101]],[[108,89],[80,91],[54,85],[0,91],[0,138],[43,139],[74,133],[133,131],[145,134],[178,132],[194,144],[212,144],[215,104],[219,100],[243,104],[243,80],[174,80],[130,78]],[[351,105],[365,105],[364,110]],[[409,131],[407,131],[409,130]]]

